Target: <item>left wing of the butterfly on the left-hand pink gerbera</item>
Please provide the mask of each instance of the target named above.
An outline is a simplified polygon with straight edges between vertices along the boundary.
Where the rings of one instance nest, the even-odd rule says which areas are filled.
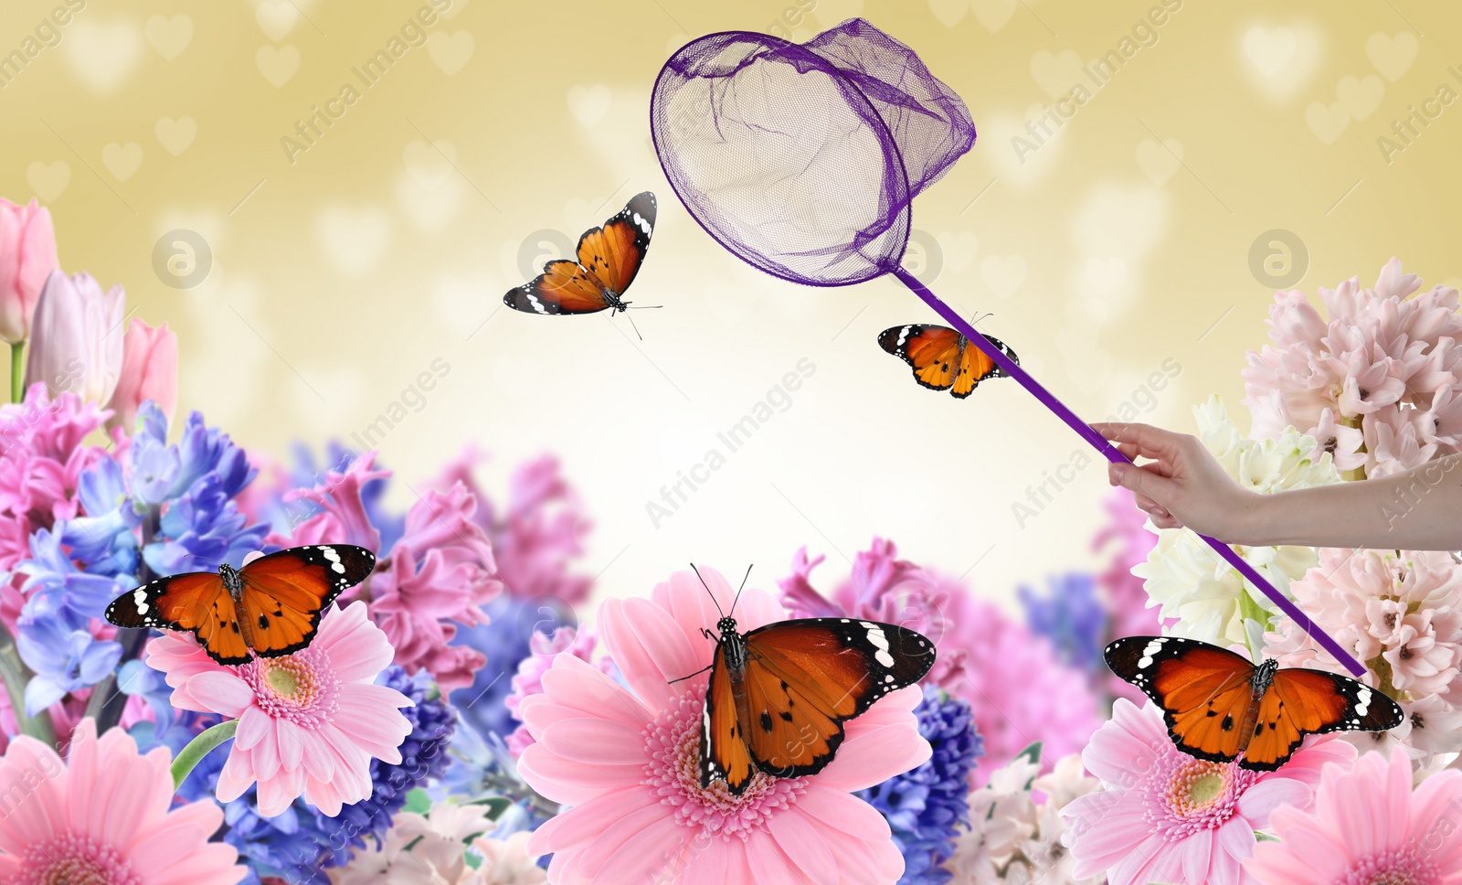
[[[187,572],[149,581],[113,600],[105,614],[120,628],[189,630],[219,664],[250,661],[234,600],[215,572]]]

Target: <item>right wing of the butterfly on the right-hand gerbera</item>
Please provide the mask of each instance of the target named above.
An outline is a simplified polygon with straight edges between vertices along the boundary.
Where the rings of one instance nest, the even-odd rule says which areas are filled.
[[[1306,734],[1386,731],[1401,724],[1401,705],[1348,676],[1289,667],[1275,673],[1259,701],[1254,734],[1240,768],[1273,771]]]

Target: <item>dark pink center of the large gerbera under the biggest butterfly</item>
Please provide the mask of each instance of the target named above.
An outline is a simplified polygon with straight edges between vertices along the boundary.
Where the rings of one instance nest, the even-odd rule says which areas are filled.
[[[678,824],[699,829],[699,838],[747,838],[781,810],[791,807],[806,790],[801,778],[773,778],[756,772],[741,796],[725,781],[700,788],[702,689],[687,689],[671,701],[645,730],[645,784],[673,806]]]

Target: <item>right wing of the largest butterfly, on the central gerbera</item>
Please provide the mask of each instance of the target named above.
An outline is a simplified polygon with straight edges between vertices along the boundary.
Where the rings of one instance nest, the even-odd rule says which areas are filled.
[[[842,743],[842,723],[934,666],[920,633],[868,620],[784,620],[746,635],[744,743],[762,771],[817,774]]]

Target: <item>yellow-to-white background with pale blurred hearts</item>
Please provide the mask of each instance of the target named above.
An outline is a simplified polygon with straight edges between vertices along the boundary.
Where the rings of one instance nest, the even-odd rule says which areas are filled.
[[[0,53],[54,6],[6,0]],[[425,407],[383,439],[385,464],[417,486],[477,442],[500,490],[509,465],[556,452],[596,524],[585,569],[610,566],[604,592],[645,592],[690,559],[754,562],[765,587],[803,543],[842,573],[883,534],[942,570],[974,566],[977,592],[1004,597],[1091,566],[1101,462],[1079,459],[1022,528],[1012,502],[1072,464],[1076,436],[1009,380],[966,401],[917,388],[874,344],[931,319],[896,281],[800,288],[716,246],[648,145],[649,89],[693,35],[806,39],[868,18],[980,130],[915,205],[942,269],[920,265],[923,247],[911,266],[966,315],[993,312],[981,328],[1089,420],[1155,401],[1149,420],[1192,429],[1190,407],[1216,392],[1247,429],[1238,373],[1275,288],[1250,266],[1263,231],[1306,244],[1310,293],[1370,284],[1393,255],[1428,285],[1458,284],[1462,102],[1390,162],[1377,138],[1439,85],[1462,89],[1447,70],[1462,66],[1462,10],[1186,0],[1020,164],[1025,120],[1151,6],[816,0],[803,16],[789,0],[452,0],[428,44],[363,88],[351,67],[420,3],[89,0],[0,89],[0,193],[39,196],[64,269],[120,282],[135,316],[177,331],[180,414],[202,408],[256,452],[348,440],[444,360]],[[281,138],[346,82],[360,101],[289,162]],[[643,341],[623,316],[499,312],[520,252],[556,257],[556,240],[639,190],[661,211],[630,297],[665,306],[636,315]],[[175,228],[212,249],[196,288],[154,269]],[[652,527],[646,502],[804,357],[816,373],[791,408]],[[1175,382],[1137,393],[1168,358]]]

